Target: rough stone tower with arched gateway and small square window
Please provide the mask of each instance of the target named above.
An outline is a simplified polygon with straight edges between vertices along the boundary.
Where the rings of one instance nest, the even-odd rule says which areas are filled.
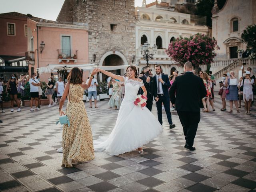
[[[57,21],[88,26],[90,63],[126,66],[134,62],[134,0],[65,0]],[[113,72],[123,75],[124,68]],[[98,78],[106,76],[98,74]]]

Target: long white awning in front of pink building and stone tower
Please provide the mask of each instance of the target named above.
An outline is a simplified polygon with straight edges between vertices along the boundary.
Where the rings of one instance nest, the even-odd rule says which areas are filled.
[[[97,66],[95,64],[80,64],[80,65],[48,64],[48,66],[46,67],[40,67],[38,69],[38,73],[42,74],[42,73],[56,72],[57,70],[71,70],[73,67],[78,67],[84,71],[92,71],[96,67],[99,67],[106,71],[111,71],[111,70],[117,70],[117,69],[126,69],[128,66],[130,65]]]

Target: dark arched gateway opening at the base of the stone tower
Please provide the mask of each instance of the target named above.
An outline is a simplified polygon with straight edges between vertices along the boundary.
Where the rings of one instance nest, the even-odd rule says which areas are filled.
[[[122,60],[122,58],[116,54],[112,54],[107,56],[103,63],[103,66],[117,66],[117,65],[124,65],[124,61]],[[121,74],[121,69],[117,69],[117,70],[108,70],[109,72],[112,72],[116,75],[123,75]],[[102,81],[105,82],[106,79],[108,78],[108,76],[106,76],[105,74],[102,74]]]

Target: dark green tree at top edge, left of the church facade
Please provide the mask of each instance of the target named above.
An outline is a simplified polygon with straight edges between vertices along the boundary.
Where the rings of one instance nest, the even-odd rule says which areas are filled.
[[[226,0],[218,0],[218,8],[221,9]],[[198,0],[196,4],[197,10],[196,15],[206,16],[206,25],[212,26],[212,8],[214,6],[214,0]]]

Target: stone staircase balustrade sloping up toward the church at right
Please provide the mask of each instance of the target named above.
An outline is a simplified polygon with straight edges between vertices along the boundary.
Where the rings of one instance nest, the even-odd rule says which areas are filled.
[[[214,74],[215,79],[219,79],[224,73],[234,71],[237,67],[241,67],[243,63],[246,63],[246,66],[256,65],[256,59],[249,58],[239,58],[231,62],[228,66],[222,68]]]

